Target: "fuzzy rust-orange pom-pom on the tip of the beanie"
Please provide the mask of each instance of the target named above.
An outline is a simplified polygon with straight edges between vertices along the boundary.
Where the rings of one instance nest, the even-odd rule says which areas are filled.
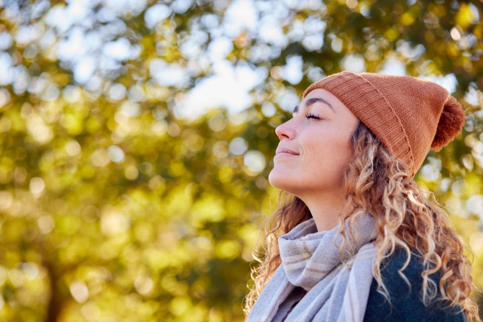
[[[450,96],[444,104],[431,148],[439,151],[451,142],[461,132],[464,120],[465,114],[461,105],[453,96]]]

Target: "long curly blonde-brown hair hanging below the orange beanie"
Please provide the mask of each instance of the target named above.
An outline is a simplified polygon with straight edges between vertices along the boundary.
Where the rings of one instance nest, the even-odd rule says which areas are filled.
[[[448,214],[438,204],[434,194],[429,192],[434,201],[426,199],[424,192],[412,180],[406,164],[394,158],[362,122],[359,122],[352,133],[351,148],[354,156],[344,168],[346,203],[339,216],[338,228],[344,243],[339,254],[345,243],[349,243],[346,226],[342,223],[350,218],[352,225],[358,215],[368,211],[376,218],[379,229],[378,237],[374,240],[378,249],[373,267],[374,278],[378,283],[377,291],[389,303],[389,293],[382,282],[379,265],[398,246],[408,254],[400,273],[410,262],[411,250],[422,254],[423,265],[426,267],[422,272],[422,298],[425,305],[437,295],[437,285],[428,275],[440,270],[438,286],[442,296],[439,300],[449,300],[448,307],[460,305],[468,321],[481,322],[476,300],[470,296],[474,294],[473,291],[479,292],[479,289],[472,282],[471,262],[463,254],[465,249],[469,253],[471,251],[461,243]],[[309,209],[301,199],[280,191],[277,209],[262,222],[260,233],[264,232],[265,237],[260,256],[257,255],[257,247],[252,252],[253,258],[260,265],[251,267],[253,285],[249,287],[250,291],[244,298],[243,311],[246,317],[281,264],[278,237],[311,217]],[[260,236],[259,234],[257,245]],[[404,274],[401,276],[410,284]]]

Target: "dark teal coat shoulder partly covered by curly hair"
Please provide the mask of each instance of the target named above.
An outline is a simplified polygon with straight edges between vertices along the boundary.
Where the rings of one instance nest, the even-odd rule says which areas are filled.
[[[408,283],[399,275],[398,270],[403,268],[408,260],[408,254],[403,248],[396,248],[394,252],[381,264],[381,278],[390,295],[392,307],[387,299],[376,291],[377,281],[373,278],[369,297],[367,300],[364,321],[466,321],[463,312],[457,313],[460,306],[444,308],[449,302],[436,303],[433,301],[425,306],[422,300],[423,277],[425,270],[421,254],[411,251],[411,259],[402,273]],[[438,286],[441,278],[440,272],[429,275]],[[381,289],[382,291],[382,289]],[[438,289],[438,296],[441,293]]]

